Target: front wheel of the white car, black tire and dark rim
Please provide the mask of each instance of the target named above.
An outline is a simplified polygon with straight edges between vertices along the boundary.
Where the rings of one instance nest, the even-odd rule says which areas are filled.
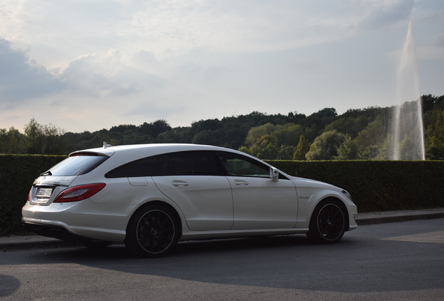
[[[321,201],[311,215],[306,236],[313,242],[332,244],[341,240],[346,231],[347,210],[334,199]]]

